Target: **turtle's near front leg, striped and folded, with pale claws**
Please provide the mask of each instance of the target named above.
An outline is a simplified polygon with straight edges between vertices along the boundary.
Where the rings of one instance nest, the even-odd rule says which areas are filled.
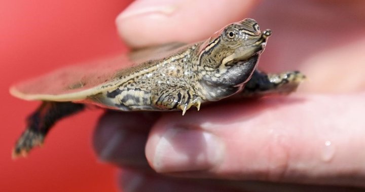
[[[152,91],[151,101],[162,110],[182,110],[182,115],[191,107],[196,106],[200,109],[201,98],[195,94],[195,91],[185,83],[181,85],[160,84]]]

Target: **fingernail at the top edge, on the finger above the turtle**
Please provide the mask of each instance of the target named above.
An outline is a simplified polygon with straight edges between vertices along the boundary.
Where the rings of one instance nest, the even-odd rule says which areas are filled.
[[[118,19],[125,19],[128,17],[134,17],[137,15],[157,13],[162,15],[169,15],[173,13],[178,5],[177,1],[136,1],[132,3],[127,9],[125,9]]]

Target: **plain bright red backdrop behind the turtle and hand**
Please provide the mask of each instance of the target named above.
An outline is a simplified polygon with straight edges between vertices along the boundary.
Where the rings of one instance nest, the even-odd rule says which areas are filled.
[[[120,53],[116,16],[129,1],[2,1],[0,6],[0,191],[116,191],[115,168],[97,160],[92,132],[101,110],[58,123],[43,148],[12,160],[25,117],[39,104],[10,96],[14,82],[60,66]]]

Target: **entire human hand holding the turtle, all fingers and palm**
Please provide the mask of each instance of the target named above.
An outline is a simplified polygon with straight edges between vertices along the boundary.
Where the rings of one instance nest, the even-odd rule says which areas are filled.
[[[123,168],[125,191],[365,187],[364,8],[363,1],[209,1],[209,9],[205,1],[134,2],[116,20],[131,47],[202,40],[250,16],[273,30],[259,68],[298,69],[309,80],[289,96],[214,103],[184,117],[106,112],[94,134],[97,155]]]

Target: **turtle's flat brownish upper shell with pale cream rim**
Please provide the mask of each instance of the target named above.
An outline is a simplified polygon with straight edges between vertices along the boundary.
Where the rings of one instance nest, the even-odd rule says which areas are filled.
[[[68,66],[16,84],[10,88],[10,93],[24,100],[80,102],[88,96],[116,88],[128,75],[155,64],[147,61],[161,60],[183,46],[173,43]]]

